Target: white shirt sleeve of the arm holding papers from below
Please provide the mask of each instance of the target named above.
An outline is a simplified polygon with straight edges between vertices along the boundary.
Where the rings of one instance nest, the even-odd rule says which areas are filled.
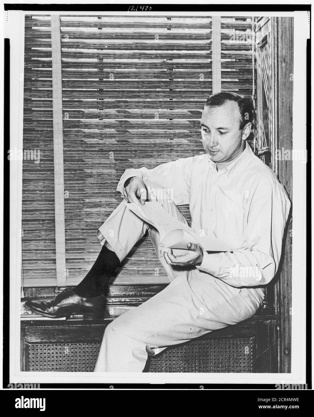
[[[196,268],[234,287],[268,284],[278,270],[290,205],[280,183],[259,184],[247,217],[247,248],[215,254],[204,251]]]

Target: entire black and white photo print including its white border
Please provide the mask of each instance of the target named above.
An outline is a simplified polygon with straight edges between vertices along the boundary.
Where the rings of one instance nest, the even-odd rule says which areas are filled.
[[[310,5],[54,6],[5,12],[10,382],[306,389]]]

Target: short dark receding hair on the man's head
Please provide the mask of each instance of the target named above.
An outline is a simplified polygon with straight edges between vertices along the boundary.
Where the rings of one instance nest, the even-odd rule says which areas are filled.
[[[220,93],[212,94],[206,100],[204,107],[220,107],[227,103],[227,101],[234,101],[238,103],[240,119],[240,130],[244,128],[247,123],[253,121],[253,104],[249,98],[243,97],[241,94],[231,93],[229,91],[221,91]]]

